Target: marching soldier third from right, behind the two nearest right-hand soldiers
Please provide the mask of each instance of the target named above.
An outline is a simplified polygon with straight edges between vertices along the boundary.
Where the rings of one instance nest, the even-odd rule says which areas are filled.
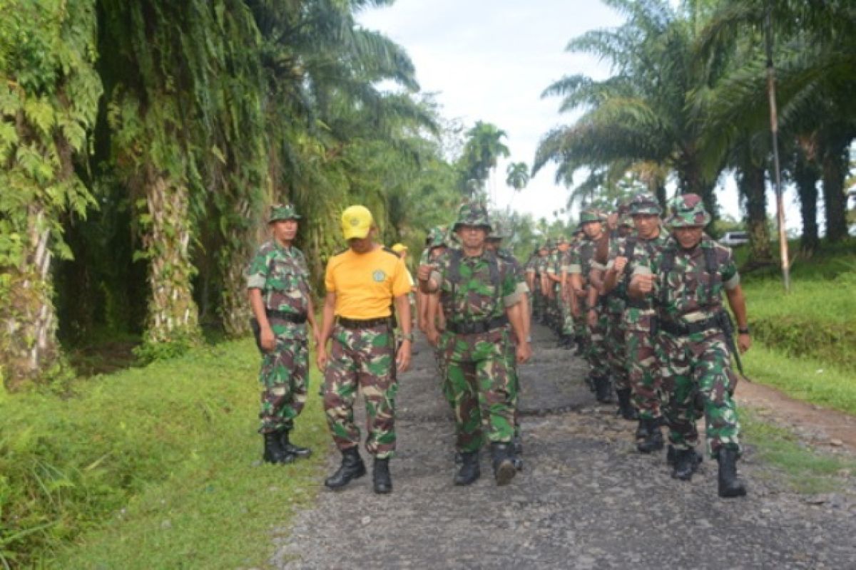
[[[595,250],[597,241],[603,237],[603,221],[603,214],[598,209],[587,208],[580,213],[580,226],[586,236],[572,251],[568,275],[574,294],[583,304],[580,314],[585,315],[585,355],[589,363],[587,380],[597,401],[609,402],[609,368],[603,345],[603,310],[598,299],[599,292],[589,282],[591,270],[597,268]]]

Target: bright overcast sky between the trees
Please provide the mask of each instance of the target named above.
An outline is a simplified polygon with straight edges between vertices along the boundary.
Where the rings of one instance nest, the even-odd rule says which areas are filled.
[[[609,75],[607,63],[568,54],[565,45],[587,30],[619,26],[621,17],[597,0],[397,0],[366,10],[360,23],[404,46],[422,90],[437,94],[446,118],[467,127],[494,123],[508,133],[509,160],[531,167],[544,133],[574,120],[558,112],[560,99],[541,98],[544,88],[568,74]],[[552,219],[568,198],[552,169],[514,196],[505,185],[507,164],[496,169],[496,205]],[[726,186],[723,213],[739,217],[734,184]],[[796,214],[788,215],[788,226],[799,227]]]

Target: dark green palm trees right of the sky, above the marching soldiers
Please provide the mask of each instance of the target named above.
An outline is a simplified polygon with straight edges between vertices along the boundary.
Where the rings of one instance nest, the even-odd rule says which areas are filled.
[[[829,241],[847,237],[845,179],[856,138],[853,3],[603,3],[625,15],[625,23],[573,38],[568,51],[599,57],[611,74],[568,75],[544,91],[544,97],[561,97],[562,112],[579,116],[544,135],[535,172],[556,163],[557,181],[574,189],[572,201],[609,197],[627,175],[665,201],[667,183],[674,182],[677,191],[704,197],[715,217],[716,182],[733,173],[752,261],[770,263],[770,44],[782,173],[799,191],[802,249],[811,255],[819,244],[818,181]]]

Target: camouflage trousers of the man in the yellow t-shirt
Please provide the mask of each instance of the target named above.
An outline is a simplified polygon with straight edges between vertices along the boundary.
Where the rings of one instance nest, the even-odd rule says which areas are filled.
[[[336,325],[324,370],[324,413],[339,450],[360,444],[354,424],[357,391],[366,401],[366,450],[377,458],[395,451],[395,338],[385,325],[348,329]]]

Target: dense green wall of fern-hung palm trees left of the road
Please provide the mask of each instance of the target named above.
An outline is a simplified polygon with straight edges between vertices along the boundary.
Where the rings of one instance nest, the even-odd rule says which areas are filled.
[[[241,273],[271,203],[304,216],[316,279],[349,203],[414,249],[449,220],[464,175],[436,106],[405,51],[355,20],[388,3],[0,3],[9,388],[62,369],[57,326],[66,344],[140,334],[143,361],[200,326],[245,333]]]

